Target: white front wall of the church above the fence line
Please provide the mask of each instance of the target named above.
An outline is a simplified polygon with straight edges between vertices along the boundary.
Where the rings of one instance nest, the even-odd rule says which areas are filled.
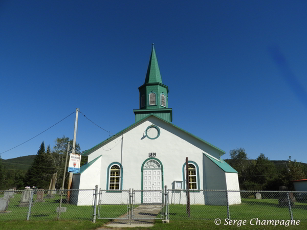
[[[160,136],[155,140],[150,140],[145,136],[146,128],[152,124],[157,125],[161,131]],[[99,187],[103,190],[107,189],[107,168],[111,163],[118,162],[123,167],[122,189],[141,190],[141,167],[150,152],[157,153],[156,158],[164,167],[164,186],[167,185],[168,188],[172,188],[174,180],[183,180],[182,167],[186,157],[189,157],[189,160],[198,164],[200,189],[226,189],[225,172],[207,157],[207,159],[203,158],[203,152],[216,158],[220,158],[221,152],[156,117],[151,116],[137,126],[126,130],[123,134],[123,149],[121,149],[121,141],[122,135],[106,142],[104,146],[89,155],[89,162],[102,155],[101,166],[99,170],[98,166],[96,169],[91,169],[91,173],[90,171],[82,173],[80,189],[92,188],[93,185],[95,187],[97,178],[99,178],[99,183],[97,183]],[[93,166],[94,164],[90,168]],[[98,176],[99,171],[101,173]],[[93,178],[95,182],[90,182]],[[210,197],[210,194],[208,196]],[[214,200],[221,201],[218,197]]]

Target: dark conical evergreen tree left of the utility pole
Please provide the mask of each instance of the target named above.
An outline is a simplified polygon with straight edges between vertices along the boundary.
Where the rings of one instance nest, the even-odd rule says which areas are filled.
[[[26,186],[35,186],[37,188],[48,189],[49,182],[46,178],[48,165],[46,162],[45,143],[42,142],[34,158],[31,168],[28,169],[25,176]]]

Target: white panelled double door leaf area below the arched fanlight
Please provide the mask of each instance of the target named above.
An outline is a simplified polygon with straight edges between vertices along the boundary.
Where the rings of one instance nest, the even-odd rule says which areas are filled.
[[[161,169],[146,169],[143,178],[143,201],[144,203],[160,203],[161,202],[161,186],[162,175]],[[157,192],[157,190],[160,190]]]

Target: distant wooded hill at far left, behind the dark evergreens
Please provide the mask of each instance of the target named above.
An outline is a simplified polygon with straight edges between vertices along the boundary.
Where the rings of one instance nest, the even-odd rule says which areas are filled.
[[[5,169],[27,170],[31,167],[35,155],[19,156],[11,159],[2,159],[2,165]]]

